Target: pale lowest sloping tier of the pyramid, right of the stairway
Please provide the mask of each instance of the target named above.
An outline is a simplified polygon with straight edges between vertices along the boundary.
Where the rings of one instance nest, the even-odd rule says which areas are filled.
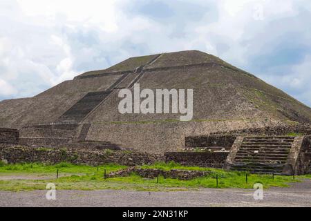
[[[104,114],[106,116],[106,113]],[[104,116],[104,114],[102,115]],[[124,148],[164,154],[165,152],[184,151],[185,137],[206,136],[214,131],[229,131],[229,128],[258,128],[265,126],[265,124],[272,125],[274,123],[248,121],[98,122],[91,125],[86,140],[106,141],[119,144]],[[113,131],[113,133],[107,133],[107,131]]]

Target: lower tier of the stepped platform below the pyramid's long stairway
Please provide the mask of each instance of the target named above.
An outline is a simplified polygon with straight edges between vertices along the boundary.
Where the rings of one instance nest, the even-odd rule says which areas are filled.
[[[24,146],[38,146],[38,147],[59,147],[66,146],[71,142],[70,138],[55,138],[55,137],[21,137],[19,144]]]

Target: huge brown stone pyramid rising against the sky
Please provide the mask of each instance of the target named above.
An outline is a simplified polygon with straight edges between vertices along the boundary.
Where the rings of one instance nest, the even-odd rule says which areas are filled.
[[[120,114],[118,91],[133,90],[135,83],[141,89],[193,89],[193,119],[180,122],[179,114]],[[310,123],[311,109],[254,75],[197,50],[132,57],[35,97],[0,102],[0,127],[88,125],[82,130],[86,140],[151,152],[176,151],[188,135],[292,121]]]

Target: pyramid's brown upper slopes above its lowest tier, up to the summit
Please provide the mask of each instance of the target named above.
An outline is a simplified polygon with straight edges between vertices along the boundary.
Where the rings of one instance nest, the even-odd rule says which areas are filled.
[[[194,89],[194,120],[292,120],[311,122],[311,109],[283,91],[225,61],[197,50],[132,57],[105,70],[75,79],[26,99],[0,102],[0,126],[61,123],[70,108],[82,122],[145,122],[178,120],[180,115],[121,115],[120,88]],[[108,93],[88,106],[88,93]],[[105,94],[106,95],[106,94]],[[86,96],[86,97],[85,97]],[[85,102],[78,102],[84,99]],[[90,109],[90,108],[88,108]],[[75,122],[75,118],[70,119]]]

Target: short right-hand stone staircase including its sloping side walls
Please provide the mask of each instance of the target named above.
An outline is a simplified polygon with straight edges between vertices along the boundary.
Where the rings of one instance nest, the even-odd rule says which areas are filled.
[[[236,145],[237,144],[237,145]],[[252,136],[236,140],[225,169],[251,173],[309,173],[310,137]]]

